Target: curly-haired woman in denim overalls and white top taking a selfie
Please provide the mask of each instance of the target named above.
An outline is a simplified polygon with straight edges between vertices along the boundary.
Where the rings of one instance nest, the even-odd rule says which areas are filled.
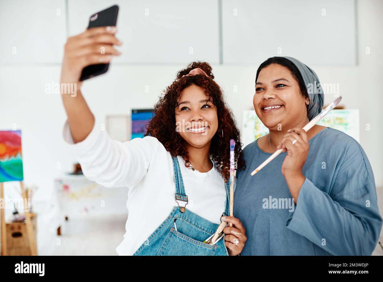
[[[126,233],[120,255],[238,255],[246,241],[239,219],[229,214],[230,139],[239,130],[207,63],[178,72],[155,105],[144,138],[113,141],[90,111],[79,81],[83,67],[109,62],[119,52],[115,27],[91,28],[65,45],[61,83],[77,84],[77,95],[62,93],[68,119],[64,138],[88,179],[106,187],[128,187]],[[105,54],[100,54],[100,48]],[[74,97],[72,97],[74,96]],[[241,146],[235,161],[243,166]],[[221,220],[224,239],[203,243]]]

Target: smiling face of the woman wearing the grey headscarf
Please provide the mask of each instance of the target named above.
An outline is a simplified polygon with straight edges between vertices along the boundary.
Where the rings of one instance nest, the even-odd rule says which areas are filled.
[[[259,72],[253,104],[267,128],[277,130],[278,124],[283,131],[293,128],[307,119],[307,103],[298,82],[286,67],[271,64]]]

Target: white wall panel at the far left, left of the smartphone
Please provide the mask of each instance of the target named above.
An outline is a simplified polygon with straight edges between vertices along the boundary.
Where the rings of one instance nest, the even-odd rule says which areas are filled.
[[[0,64],[58,64],[65,34],[64,0],[0,3]]]

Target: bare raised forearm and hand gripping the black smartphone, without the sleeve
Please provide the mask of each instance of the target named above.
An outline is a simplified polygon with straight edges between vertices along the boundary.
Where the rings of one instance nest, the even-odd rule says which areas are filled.
[[[110,62],[111,56],[120,54],[113,48],[114,44],[121,45],[115,33],[116,28],[110,26],[90,28],[68,38],[65,44],[60,88],[74,143],[83,141],[95,123],[95,118],[80,91],[82,69],[93,64]],[[68,84],[72,90],[76,90],[75,93],[68,91]]]

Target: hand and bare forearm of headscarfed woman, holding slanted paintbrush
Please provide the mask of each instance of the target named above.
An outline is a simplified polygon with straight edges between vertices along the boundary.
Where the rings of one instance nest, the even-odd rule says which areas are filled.
[[[306,162],[310,145],[306,131],[302,128],[293,128],[287,132],[278,144],[277,149],[283,149],[283,152],[287,151],[287,155],[282,164],[282,174],[286,179],[294,202],[297,203],[299,192],[306,180],[306,177],[302,173],[302,168],[304,162]]]

